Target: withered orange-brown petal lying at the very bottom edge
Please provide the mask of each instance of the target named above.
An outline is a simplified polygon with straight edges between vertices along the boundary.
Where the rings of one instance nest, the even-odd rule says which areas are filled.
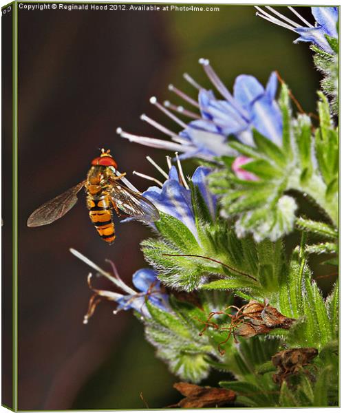
[[[216,407],[235,401],[235,392],[222,388],[202,387],[191,383],[175,383],[173,385],[183,396],[179,403],[169,407],[197,409],[201,407]]]

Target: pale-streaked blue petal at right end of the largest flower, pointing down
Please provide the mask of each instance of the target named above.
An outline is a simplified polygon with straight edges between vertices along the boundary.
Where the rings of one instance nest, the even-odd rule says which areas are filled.
[[[262,96],[252,105],[250,114],[253,127],[276,145],[281,146],[282,115],[277,103],[271,102],[267,96]]]

